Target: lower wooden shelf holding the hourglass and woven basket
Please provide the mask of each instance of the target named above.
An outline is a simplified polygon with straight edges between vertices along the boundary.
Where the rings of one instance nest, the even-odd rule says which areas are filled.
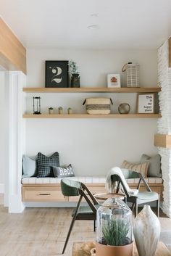
[[[88,114],[72,114],[72,115],[33,115],[33,114],[24,114],[24,118],[159,118],[160,114],[109,114],[109,115],[88,115]]]

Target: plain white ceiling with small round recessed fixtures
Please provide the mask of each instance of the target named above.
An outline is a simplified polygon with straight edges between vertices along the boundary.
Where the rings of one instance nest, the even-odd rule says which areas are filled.
[[[26,48],[157,49],[171,35],[171,0],[0,0],[0,15]]]

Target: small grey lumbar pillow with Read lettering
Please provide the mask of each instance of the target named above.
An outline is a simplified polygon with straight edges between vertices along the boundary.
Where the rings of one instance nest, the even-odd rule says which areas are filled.
[[[64,165],[64,166],[53,166],[54,177],[64,178],[64,177],[73,177],[75,176],[74,171],[72,169],[72,165]]]

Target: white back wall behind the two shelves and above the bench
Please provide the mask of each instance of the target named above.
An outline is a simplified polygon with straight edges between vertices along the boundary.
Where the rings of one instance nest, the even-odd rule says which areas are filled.
[[[141,66],[141,86],[157,86],[157,51],[93,51],[74,49],[28,49],[27,86],[43,87],[45,60],[73,59],[80,67],[81,86],[107,86],[107,73],[120,73],[122,86],[126,62]],[[121,102],[128,102],[135,111],[136,94],[25,94],[27,112],[33,112],[32,97],[41,96],[42,112],[48,107],[72,107],[85,112],[83,99],[91,96],[110,96],[112,111]],[[26,154],[51,154],[58,151],[61,164],[72,163],[75,174],[106,175],[109,168],[123,160],[138,162],[141,154],[156,154],[154,133],[156,119],[30,119],[26,120]]]

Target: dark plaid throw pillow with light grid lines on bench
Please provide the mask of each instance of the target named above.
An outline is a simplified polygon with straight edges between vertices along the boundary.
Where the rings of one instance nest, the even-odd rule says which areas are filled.
[[[38,175],[37,178],[54,177],[52,166],[59,166],[59,153],[55,152],[51,157],[46,157],[38,152]]]

